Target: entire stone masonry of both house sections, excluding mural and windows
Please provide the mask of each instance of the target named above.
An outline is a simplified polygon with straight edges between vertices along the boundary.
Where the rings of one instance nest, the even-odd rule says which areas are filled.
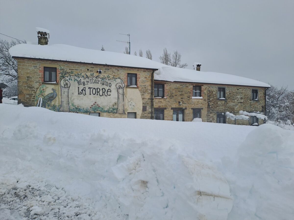
[[[127,86],[128,73],[137,74],[137,87],[128,89],[137,89],[142,98],[142,119],[151,119],[151,77],[153,70],[139,69],[132,67],[113,67],[105,65],[83,64],[74,62],[59,62],[48,60],[34,60],[17,58],[18,61],[18,100],[24,106],[36,106],[35,96],[38,88],[48,83],[44,82],[44,67],[56,67],[56,83],[50,85],[59,85],[60,71],[59,67],[74,73],[96,73],[101,69],[102,74],[123,79]],[[234,115],[239,115],[239,111],[264,112],[265,111],[265,89],[264,87],[250,87],[238,85],[217,85],[201,84],[189,82],[166,82],[154,80],[155,84],[164,84],[164,97],[153,98],[153,108],[164,110],[164,120],[173,120],[173,109],[184,110],[184,121],[193,120],[193,109],[201,110],[201,118],[204,122],[217,122],[217,114],[225,114],[229,111]],[[193,86],[201,86],[200,99],[193,98]],[[225,88],[225,99],[218,99],[218,87]],[[258,100],[252,100],[252,89],[258,89]],[[181,102],[181,106],[179,105]],[[110,116],[106,117],[126,117]],[[263,121],[259,119],[259,124]],[[226,123],[248,125],[248,120],[226,119]]]

